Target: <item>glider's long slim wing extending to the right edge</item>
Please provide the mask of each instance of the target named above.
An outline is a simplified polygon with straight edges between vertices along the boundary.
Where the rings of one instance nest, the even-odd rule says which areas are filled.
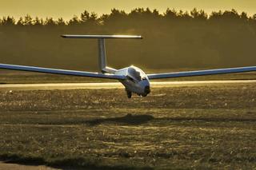
[[[191,77],[191,76],[206,76],[222,73],[242,73],[256,71],[256,66],[251,67],[238,67],[229,69],[206,69],[198,71],[186,71],[186,72],[176,72],[176,73],[154,73],[147,74],[149,79],[159,79],[159,78],[174,78],[174,77]]]

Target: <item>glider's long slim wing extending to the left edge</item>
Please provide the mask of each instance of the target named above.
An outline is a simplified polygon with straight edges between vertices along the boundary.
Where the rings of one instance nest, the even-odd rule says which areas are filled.
[[[48,68],[25,66],[25,65],[0,64],[0,69],[14,69],[14,70],[39,72],[39,73],[55,73],[55,74],[64,74],[64,75],[70,75],[70,76],[109,78],[109,79],[117,79],[117,80],[125,79],[125,76],[115,75],[115,74],[92,73],[92,72],[74,71],[74,70],[67,70],[67,69],[48,69]]]

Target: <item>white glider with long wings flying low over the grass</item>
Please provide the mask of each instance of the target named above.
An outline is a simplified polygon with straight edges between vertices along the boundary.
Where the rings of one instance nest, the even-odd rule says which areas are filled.
[[[127,97],[130,98],[132,93],[146,97],[150,93],[150,80],[160,78],[173,77],[191,77],[205,76],[222,73],[242,73],[256,71],[256,66],[238,67],[229,69],[207,69],[197,71],[175,72],[175,73],[153,73],[146,74],[133,65],[123,69],[113,69],[106,66],[106,39],[142,39],[142,36],[135,35],[62,35],[62,38],[97,38],[98,39],[98,65],[100,73],[75,71],[67,69],[49,69],[42,67],[26,66],[26,65],[7,65],[0,64],[0,69],[15,69],[21,71],[39,72],[39,73],[55,73],[80,77],[96,77],[115,79],[122,83],[126,88]]]

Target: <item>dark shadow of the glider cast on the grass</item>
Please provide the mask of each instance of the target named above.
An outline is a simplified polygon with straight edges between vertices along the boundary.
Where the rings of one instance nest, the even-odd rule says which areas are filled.
[[[127,114],[124,117],[97,118],[83,123],[89,125],[100,124],[124,124],[124,125],[142,125],[150,121],[198,121],[198,122],[255,122],[256,119],[248,118],[230,118],[230,117],[153,117],[151,115],[131,115]]]

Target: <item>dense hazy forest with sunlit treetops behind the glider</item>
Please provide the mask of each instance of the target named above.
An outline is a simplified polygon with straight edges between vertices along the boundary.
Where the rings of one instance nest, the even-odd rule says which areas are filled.
[[[138,34],[143,40],[106,40],[108,65],[144,69],[218,68],[256,65],[256,14],[236,10],[86,10],[62,18],[0,20],[0,63],[62,69],[98,69],[97,40],[64,39],[61,34]]]

